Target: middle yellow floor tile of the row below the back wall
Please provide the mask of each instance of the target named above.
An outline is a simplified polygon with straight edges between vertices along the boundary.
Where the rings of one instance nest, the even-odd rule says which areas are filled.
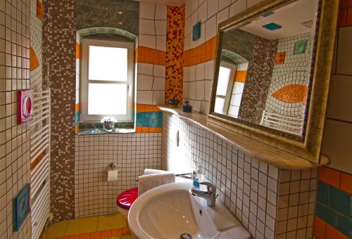
[[[98,217],[68,220],[65,235],[93,233],[98,225]]]

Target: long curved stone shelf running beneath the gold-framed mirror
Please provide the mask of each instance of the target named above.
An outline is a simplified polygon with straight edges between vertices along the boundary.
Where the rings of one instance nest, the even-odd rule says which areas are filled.
[[[203,129],[210,131],[216,136],[236,146],[244,153],[248,153],[249,155],[256,157],[256,159],[272,164],[279,169],[308,169],[319,167],[329,162],[329,159],[325,157],[325,155],[321,156],[320,164],[310,162],[286,151],[274,148],[266,143],[256,141],[253,138],[220,127],[217,124],[207,122],[207,115],[203,115],[199,112],[182,112],[180,108],[170,108],[166,105],[158,106],[158,108],[163,112],[177,115],[177,117],[182,120],[194,123]]]

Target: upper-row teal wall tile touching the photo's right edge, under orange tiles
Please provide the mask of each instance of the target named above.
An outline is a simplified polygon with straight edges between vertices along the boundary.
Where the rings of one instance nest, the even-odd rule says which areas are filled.
[[[341,212],[341,214],[352,217],[352,195],[330,187],[330,207]]]

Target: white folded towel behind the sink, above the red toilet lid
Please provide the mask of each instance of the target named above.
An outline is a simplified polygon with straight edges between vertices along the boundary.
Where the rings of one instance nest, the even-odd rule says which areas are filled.
[[[167,183],[175,183],[175,174],[147,174],[138,177],[138,195],[145,193],[151,188]]]

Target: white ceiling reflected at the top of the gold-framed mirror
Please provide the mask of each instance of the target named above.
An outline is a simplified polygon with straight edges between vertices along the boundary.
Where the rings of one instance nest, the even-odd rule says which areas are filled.
[[[318,9],[318,0],[298,0],[292,4],[288,4],[279,8],[274,14],[267,17],[259,17],[254,19],[250,24],[241,27],[241,30],[251,32],[258,37],[265,39],[280,39],[293,36],[303,32],[311,32],[315,30],[315,18]],[[313,27],[306,27],[301,22],[314,20]],[[263,25],[274,22],[281,25],[279,30],[266,30]]]

